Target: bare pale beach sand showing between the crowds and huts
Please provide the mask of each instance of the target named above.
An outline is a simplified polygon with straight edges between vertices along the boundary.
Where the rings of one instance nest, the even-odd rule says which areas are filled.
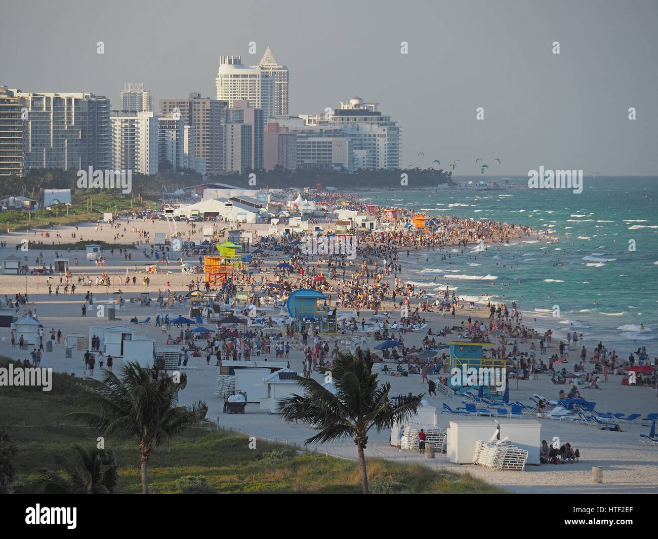
[[[139,241],[139,235],[131,231],[132,227],[139,227],[139,229],[146,229],[153,237],[154,233],[170,233],[168,223],[164,221],[143,221],[130,220],[130,224],[124,224],[126,221],[122,219],[122,228],[126,227],[124,237],[120,237],[116,242],[125,244],[135,244]],[[200,224],[200,223],[199,223]],[[218,229],[224,228],[224,223],[216,223]],[[247,230],[256,231],[259,235],[266,233],[268,225],[243,225]],[[179,231],[185,231],[187,237],[187,225],[182,222],[178,223]],[[201,227],[197,227],[197,232],[191,238],[197,242],[201,239]],[[53,239],[41,237],[41,230],[30,231],[29,235],[25,232],[11,233],[9,235],[3,234],[1,238],[7,241],[7,248],[0,250],[0,256],[5,258],[9,254],[27,254],[28,264],[34,267],[34,261],[39,253],[43,253],[43,263],[49,266],[55,258],[55,249],[52,248],[36,248],[30,249],[28,253],[16,251],[16,245],[20,244],[23,239],[30,241],[44,241],[44,242],[71,242],[74,241],[70,238],[72,232],[76,232],[79,237],[82,235],[85,242],[105,241],[115,242],[114,235],[116,229],[111,229],[107,225],[103,225],[102,230],[94,230],[92,224],[80,225],[78,231],[74,227],[63,227],[59,229],[61,232],[61,239]],[[51,235],[52,236],[52,235]],[[143,240],[142,240],[143,241]],[[171,273],[157,273],[149,274],[151,283],[149,287],[143,287],[141,277],[147,273],[136,273],[134,267],[138,270],[145,270],[148,264],[153,263],[152,258],[146,258],[142,250],[143,245],[135,246],[129,250],[132,255],[130,262],[124,260],[118,252],[111,255],[110,252],[105,252],[106,258],[105,266],[96,266],[93,262],[85,260],[84,250],[66,253],[66,257],[70,259],[72,266],[70,271],[74,275],[74,282],[76,282],[78,273],[84,272],[91,275],[91,279],[95,282],[95,277],[101,272],[109,272],[111,279],[116,280],[113,286],[109,289],[105,287],[77,287],[75,294],[55,296],[53,286],[53,295],[49,296],[45,279],[43,275],[36,277],[34,275],[2,275],[0,277],[0,297],[7,295],[12,298],[16,293],[28,293],[30,298],[30,305],[27,308],[36,310],[38,319],[43,324],[45,331],[45,338],[50,335],[51,328],[55,331],[61,329],[62,334],[68,333],[88,333],[88,326],[114,326],[116,324],[123,324],[131,326],[130,318],[137,316],[139,320],[144,320],[147,316],[151,316],[149,324],[139,324],[137,327],[138,335],[155,339],[156,348],[163,346],[166,343],[166,335],[163,334],[161,328],[155,327],[155,316],[162,312],[157,308],[157,305],[151,303],[151,306],[142,307],[139,304],[128,303],[126,300],[126,310],[117,312],[117,316],[122,318],[122,322],[109,322],[107,318],[97,318],[95,316],[95,307],[97,305],[107,304],[108,299],[116,298],[113,294],[114,291],[121,288],[124,291],[126,299],[132,296],[138,296],[142,291],[149,291],[152,297],[157,297],[158,289],[165,290],[166,283],[170,283],[172,291],[185,294],[188,291],[187,285],[190,283],[191,275],[182,273],[180,264],[170,262],[169,266],[159,264],[161,269],[168,270]],[[422,251],[420,251],[422,253]],[[74,258],[78,258],[79,266],[73,265]],[[272,275],[272,266],[277,260],[285,260],[285,256],[280,253],[274,253],[273,256],[266,259],[268,262],[265,264],[265,270],[268,273],[261,274],[255,273],[254,277],[258,279],[261,275]],[[198,262],[198,256],[190,256],[185,258],[186,262]],[[359,259],[355,262],[360,262]],[[401,263],[403,259],[401,258]],[[358,266],[358,264],[357,264]],[[357,267],[355,266],[355,268]],[[138,277],[136,285],[124,285],[122,281],[126,277],[126,268],[128,268],[128,275],[132,277],[134,274]],[[320,264],[316,271],[326,271],[326,264]],[[203,274],[193,275],[193,277],[203,277]],[[39,282],[38,282],[39,281]],[[53,281],[59,283],[59,274],[53,275]],[[76,283],[77,286],[77,283]],[[93,308],[89,308],[88,316],[83,318],[80,316],[81,306],[85,303],[84,295],[86,291],[92,291],[95,300]],[[134,293],[133,293],[134,292]],[[335,295],[334,295],[335,298]],[[417,306],[418,300],[413,300],[411,308]],[[389,302],[382,306],[388,310],[392,310],[393,305]],[[523,312],[524,306],[519,304],[519,310]],[[345,309],[350,312],[351,309]],[[169,310],[170,316],[177,316],[182,314],[188,316],[188,307],[184,307],[177,312],[176,310]],[[5,308],[0,314],[16,314],[15,309]],[[23,308],[20,308],[18,316],[22,316]],[[372,316],[372,310],[361,311],[360,318],[368,320]],[[421,316],[426,319],[428,328],[432,329],[432,333],[436,335],[439,329],[444,326],[459,325],[467,320],[470,316],[473,320],[488,320],[488,310],[484,306],[478,306],[474,309],[457,309],[456,318],[451,320],[449,316],[442,318],[438,312],[424,312]],[[530,315],[524,320],[526,326],[532,327],[530,322]],[[356,335],[365,335],[362,332],[361,325]],[[172,327],[173,331],[180,331],[178,328]],[[557,343],[560,339],[566,338],[566,331],[564,327],[555,326],[553,328],[555,337],[553,338],[553,345],[549,347],[548,354],[542,356],[545,361],[547,358],[556,352]],[[424,331],[417,331],[407,333],[405,335],[405,346],[407,347],[420,347],[422,339],[426,336],[426,329]],[[351,335],[350,335],[351,336]],[[10,329],[8,327],[0,328],[0,337],[2,339],[2,354],[14,359],[28,359],[30,350],[20,350],[18,345],[15,348],[11,347],[10,343]],[[344,335],[337,337],[328,337],[328,342],[332,348],[334,339],[343,339]],[[559,338],[557,338],[559,337]],[[451,340],[448,337],[434,337],[438,343],[447,342]],[[530,340],[527,343],[519,345],[522,352],[527,352],[530,346]],[[538,341],[534,341],[538,347]],[[594,349],[597,343],[588,341],[585,337],[584,344],[588,350]],[[370,341],[370,347],[374,347],[376,341]],[[342,345],[341,345],[342,346]],[[72,358],[64,357],[64,345],[53,345],[53,352],[45,352],[43,360],[41,361],[42,367],[51,367],[53,370],[62,372],[74,372],[76,376],[84,376],[84,360],[82,358],[84,351],[73,351]],[[567,370],[572,370],[572,364],[575,360],[576,352],[572,352],[570,363],[567,364]],[[274,358],[274,347],[268,356],[270,360]],[[301,373],[303,352],[298,349],[291,349],[290,354],[291,368]],[[122,361],[116,360],[114,363],[114,372],[120,370]],[[391,363],[389,363],[390,368]],[[188,386],[181,393],[182,404],[190,404],[199,399],[207,402],[209,411],[207,416],[211,420],[219,418],[222,426],[227,428],[234,428],[242,432],[247,432],[251,435],[263,436],[269,439],[288,440],[291,442],[301,443],[305,438],[312,436],[312,432],[307,426],[302,424],[287,424],[278,416],[268,415],[267,412],[261,411],[257,405],[248,405],[247,413],[245,414],[223,414],[222,405],[223,399],[215,397],[213,391],[215,389],[216,377],[218,375],[218,368],[214,362],[210,365],[206,364],[205,357],[191,357],[190,366],[196,366],[196,370],[188,372]],[[381,368],[381,366],[379,367]],[[592,364],[585,364],[585,372],[591,372]],[[314,372],[313,376],[320,380],[322,374]],[[442,374],[445,376],[445,374]],[[95,372],[95,378],[99,378],[100,373],[98,370]],[[436,376],[433,376],[436,380]],[[647,416],[651,412],[658,411],[658,399],[656,398],[656,390],[648,386],[632,387],[627,385],[620,385],[622,380],[621,376],[610,375],[608,382],[603,382],[603,377],[599,381],[600,390],[596,389],[581,389],[580,393],[584,399],[595,401],[596,409],[599,412],[623,412],[624,414],[640,413],[641,417]],[[387,376],[386,374],[380,375],[380,382],[390,382],[392,385],[392,395],[399,393],[426,393],[427,385],[422,382],[420,374],[409,374],[408,377]],[[557,399],[560,389],[569,390],[569,385],[555,385],[551,382],[550,375],[540,374],[539,380],[511,380],[510,385],[510,399],[511,401],[520,401],[520,403],[531,405],[529,397],[535,393],[546,397],[547,399]],[[449,414],[441,414],[442,403],[448,403],[453,409],[462,406],[461,398],[447,398],[439,393],[438,397],[425,397],[428,399],[430,405],[436,406],[438,426],[446,427],[450,420],[464,420],[464,418],[451,416]],[[478,418],[479,419],[479,418]],[[468,418],[466,418],[468,420]],[[491,419],[493,424],[493,419]],[[459,471],[467,471],[479,478],[482,478],[492,484],[508,488],[513,492],[519,493],[649,493],[655,492],[658,487],[658,447],[650,445],[643,445],[640,441],[640,434],[647,434],[647,426],[643,426],[642,420],[638,420],[634,424],[621,423],[620,426],[624,432],[609,432],[602,431],[591,426],[584,426],[578,424],[569,424],[559,420],[550,420],[548,418],[539,419],[542,424],[542,439],[551,442],[554,436],[558,436],[562,443],[569,441],[572,447],[580,449],[582,455],[579,463],[565,464],[565,465],[541,465],[541,466],[527,466],[525,472],[513,471],[500,471],[494,472],[485,470],[474,465],[453,465],[449,463],[445,455],[437,455],[435,459],[425,459],[422,455],[412,453],[411,451],[404,451],[398,453],[395,447],[389,443],[390,432],[382,432],[377,434],[370,433],[370,440],[366,451],[367,457],[383,457],[392,460],[401,460],[405,462],[414,461],[423,463],[430,467],[436,468],[451,468]],[[310,449],[317,449],[318,451],[328,451],[331,454],[340,454],[343,456],[356,458],[357,447],[352,440],[345,440],[342,443],[324,444],[321,447],[311,446]],[[603,467],[603,484],[592,484],[591,470],[593,466]]]

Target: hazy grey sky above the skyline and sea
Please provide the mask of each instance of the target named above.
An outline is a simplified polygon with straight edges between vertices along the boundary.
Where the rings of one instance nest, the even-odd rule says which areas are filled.
[[[481,157],[483,178],[540,165],[655,175],[657,21],[655,0],[22,0],[3,5],[0,84],[116,107],[124,82],[143,82],[157,109],[215,98],[220,55],[256,65],[270,45],[290,69],[291,113],[358,91],[403,128],[403,167],[461,159],[455,175],[472,175]]]

